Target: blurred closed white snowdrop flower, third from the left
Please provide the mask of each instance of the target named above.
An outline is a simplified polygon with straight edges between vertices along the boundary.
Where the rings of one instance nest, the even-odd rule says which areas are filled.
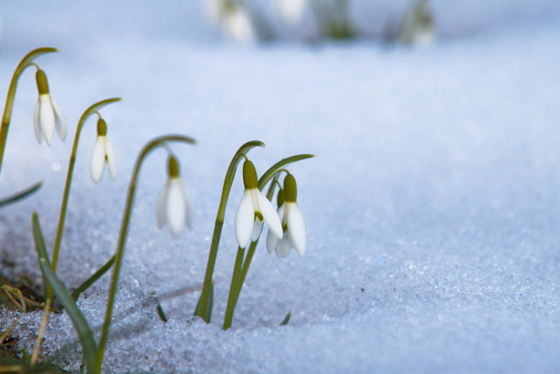
[[[167,225],[169,231],[177,236],[183,226],[193,227],[195,212],[190,193],[179,178],[179,162],[173,155],[169,155],[167,165],[169,178],[160,192],[156,216],[160,230]]]

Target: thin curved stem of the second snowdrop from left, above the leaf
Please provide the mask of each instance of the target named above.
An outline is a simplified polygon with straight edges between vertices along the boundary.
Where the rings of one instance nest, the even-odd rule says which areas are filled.
[[[76,163],[76,151],[78,151],[78,141],[80,140],[80,133],[82,132],[83,125],[85,124],[85,120],[89,118],[92,114],[97,113],[99,109],[102,109],[104,106],[109,105],[113,102],[120,102],[122,100],[120,97],[113,97],[112,99],[105,99],[101,102],[97,102],[87,108],[85,112],[83,112],[80,120],[78,121],[78,128],[76,129],[76,135],[74,136],[74,144],[72,147],[72,153],[70,155],[70,161],[68,164],[68,173],[66,174],[66,185],[64,186],[64,195],[62,197],[62,205],[60,206],[60,214],[58,216],[58,229],[57,229],[57,238],[55,240],[55,249],[52,252],[52,262],[51,268],[52,272],[56,272],[57,270],[57,261],[58,261],[58,252],[60,249],[60,241],[62,240],[62,229],[64,228],[64,219],[66,219],[66,207],[68,206],[68,197],[70,193],[70,184],[72,183],[72,175],[74,172],[74,164]],[[99,113],[97,113],[99,116]],[[50,293],[52,295],[52,291]]]

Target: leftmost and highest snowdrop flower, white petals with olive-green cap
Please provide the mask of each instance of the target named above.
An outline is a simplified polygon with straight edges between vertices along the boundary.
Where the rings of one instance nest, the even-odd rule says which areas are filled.
[[[35,105],[34,112],[35,137],[39,144],[45,139],[47,145],[50,146],[52,143],[52,135],[55,134],[55,128],[60,140],[64,141],[66,138],[66,122],[64,121],[64,116],[59,106],[55,100],[50,97],[45,71],[38,69],[35,74],[35,79],[39,92],[39,98]]]

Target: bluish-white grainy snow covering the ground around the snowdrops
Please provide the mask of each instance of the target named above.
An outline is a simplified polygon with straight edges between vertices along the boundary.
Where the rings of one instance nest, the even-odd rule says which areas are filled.
[[[372,41],[237,46],[221,41],[200,3],[155,4],[0,3],[0,87],[7,91],[29,50],[61,49],[37,62],[69,125],[64,143],[55,135],[52,148],[36,144],[36,88],[26,72],[0,196],[40,179],[44,185],[0,212],[4,274],[41,283],[31,212],[52,248],[71,139],[87,106],[124,98],[102,110],[118,178],[91,181],[95,121],[88,121],[57,268],[69,288],[115,251],[141,146],[174,132],[199,141],[173,146],[196,210],[194,230],[178,239],[155,227],[165,151],[144,163],[107,371],[560,371],[557,2],[435,2],[447,38],[423,50]],[[379,7],[390,13],[390,5]],[[290,167],[307,251],[280,259],[260,243],[232,329],[224,332],[240,179],[216,263],[213,323],[190,316],[225,170],[252,139],[267,144],[249,153],[261,173],[288,155],[317,155]],[[163,323],[151,293],[183,287],[183,296],[162,301]],[[97,337],[108,288],[106,276],[79,301]],[[290,323],[279,327],[288,310]],[[2,330],[18,319],[15,333],[31,349],[41,312],[0,315]],[[51,317],[41,354],[79,369],[67,314]]]

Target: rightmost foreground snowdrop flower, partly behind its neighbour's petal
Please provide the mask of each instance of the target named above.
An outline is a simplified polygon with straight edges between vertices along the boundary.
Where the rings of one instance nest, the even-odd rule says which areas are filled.
[[[276,255],[286,257],[290,254],[292,247],[295,248],[297,254],[303,257],[305,253],[305,241],[307,232],[305,230],[305,222],[300,209],[295,202],[297,198],[297,186],[295,178],[292,174],[288,174],[284,179],[283,203],[281,202],[281,192],[279,192],[279,208],[278,215],[282,219],[283,237],[279,239],[274,233],[268,232],[267,250],[268,254],[276,250]]]

